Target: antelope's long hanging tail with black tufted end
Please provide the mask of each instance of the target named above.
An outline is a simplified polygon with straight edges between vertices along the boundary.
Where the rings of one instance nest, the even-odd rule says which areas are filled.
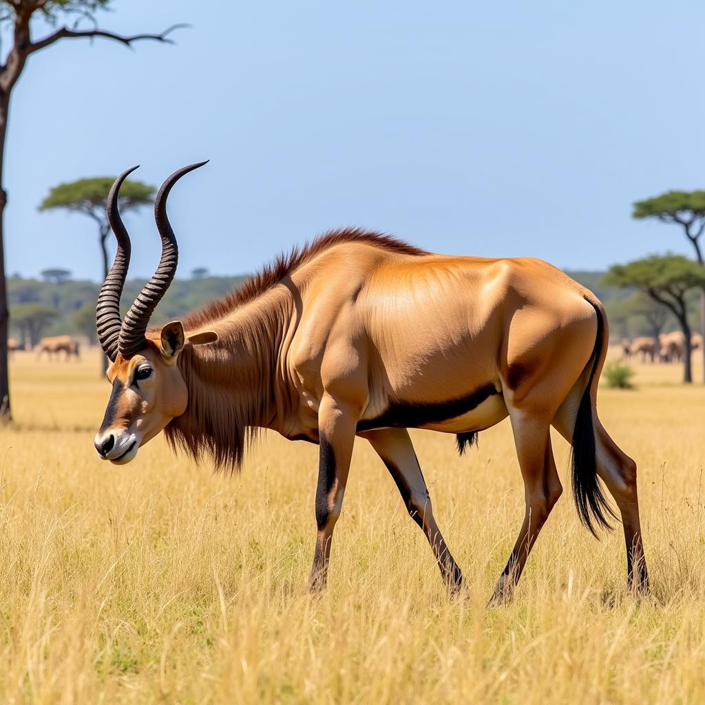
[[[590,379],[580,400],[575,417],[575,429],[572,437],[570,467],[572,470],[572,491],[580,520],[597,538],[594,525],[603,529],[612,529],[608,517],[616,519],[609,505],[597,476],[595,448],[595,429],[592,420],[591,387],[599,364],[600,353],[605,335],[603,313],[592,304],[597,314],[597,336],[592,353],[593,363]]]

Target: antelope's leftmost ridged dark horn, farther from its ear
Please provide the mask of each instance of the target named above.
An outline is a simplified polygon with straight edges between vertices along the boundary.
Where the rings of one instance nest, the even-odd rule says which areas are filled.
[[[115,362],[118,354],[118,339],[123,322],[120,315],[120,296],[123,293],[125,277],[128,274],[128,266],[130,265],[130,236],[123,225],[118,211],[118,193],[123,181],[138,166],[140,165],[137,164],[137,166],[123,171],[116,178],[108,194],[105,208],[108,222],[118,241],[118,250],[115,253],[113,266],[111,266],[98,295],[95,307],[95,324],[100,346],[112,362]]]

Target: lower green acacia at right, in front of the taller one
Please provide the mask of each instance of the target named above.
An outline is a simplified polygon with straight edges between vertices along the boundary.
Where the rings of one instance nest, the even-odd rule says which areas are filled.
[[[694,288],[705,288],[705,268],[682,255],[654,255],[629,264],[614,264],[603,278],[608,286],[635,287],[665,306],[678,319],[685,338],[683,381],[693,381],[691,329],[686,295]]]

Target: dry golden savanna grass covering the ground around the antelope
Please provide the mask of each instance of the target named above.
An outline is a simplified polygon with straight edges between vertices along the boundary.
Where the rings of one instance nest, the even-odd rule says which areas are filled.
[[[603,389],[599,410],[639,465],[652,596],[626,588],[619,527],[591,538],[566,491],[513,603],[486,608],[523,513],[508,422],[463,458],[452,436],[413,434],[460,596],[357,441],[329,589],[312,598],[317,448],[267,435],[234,477],[162,439],[131,465],[99,462],[97,354],[18,353],[0,429],[0,701],[701,702],[705,387],[635,367],[637,390]]]

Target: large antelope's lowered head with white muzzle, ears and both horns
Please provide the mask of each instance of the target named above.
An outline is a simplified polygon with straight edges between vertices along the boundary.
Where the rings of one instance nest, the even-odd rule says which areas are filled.
[[[180,321],[166,324],[161,331],[147,333],[149,317],[171,284],[178,263],[178,246],[166,216],[166,199],[176,181],[203,164],[206,162],[185,166],[161,185],[154,201],[161,259],[124,321],[120,317],[120,296],[130,264],[130,238],[118,212],[118,193],[136,166],[116,178],[108,196],[106,211],[118,249],[98,296],[96,324],[101,347],[112,363],[107,376],[113,390],[95,436],[95,448],[102,460],[118,465],[130,462],[140,446],[157,436],[171,419],[185,412],[188,391],[176,364],[185,346],[218,339],[212,331],[187,338]]]

